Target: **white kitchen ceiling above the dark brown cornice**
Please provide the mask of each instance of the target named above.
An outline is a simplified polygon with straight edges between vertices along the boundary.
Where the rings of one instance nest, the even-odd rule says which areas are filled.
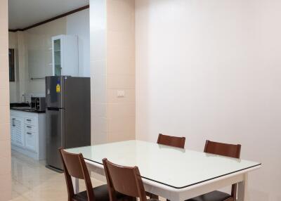
[[[17,30],[89,5],[89,0],[8,0],[8,27]]]

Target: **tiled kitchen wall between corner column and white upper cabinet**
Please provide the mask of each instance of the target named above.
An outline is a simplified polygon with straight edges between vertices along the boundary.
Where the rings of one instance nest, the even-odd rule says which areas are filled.
[[[32,94],[32,96],[45,94],[45,79],[30,79],[52,75],[51,37],[66,34],[66,25],[66,18],[59,18],[23,32],[27,48],[25,60],[28,64],[25,93]]]

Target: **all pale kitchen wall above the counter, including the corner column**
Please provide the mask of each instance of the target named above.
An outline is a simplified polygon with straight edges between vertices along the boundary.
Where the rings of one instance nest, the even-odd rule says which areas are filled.
[[[9,32],[9,48],[15,48],[15,82],[10,83],[11,103],[24,101],[26,94],[44,95],[45,81],[31,77],[50,75],[52,68],[51,37],[66,33],[66,18],[48,22],[25,32]]]

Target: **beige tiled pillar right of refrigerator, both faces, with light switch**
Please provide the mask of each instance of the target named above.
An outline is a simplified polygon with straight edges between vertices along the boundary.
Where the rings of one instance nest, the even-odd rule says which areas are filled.
[[[134,1],[92,0],[92,143],[135,138]],[[125,96],[117,98],[117,91]]]

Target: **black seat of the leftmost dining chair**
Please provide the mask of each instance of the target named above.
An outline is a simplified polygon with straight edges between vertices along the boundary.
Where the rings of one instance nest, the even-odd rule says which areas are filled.
[[[96,201],[110,201],[110,195],[108,193],[106,184],[93,188],[93,194],[96,197]],[[122,193],[117,193],[116,196],[117,200],[126,197],[126,195],[123,195]],[[77,193],[76,195],[74,195],[73,199],[77,201],[88,201],[87,191],[85,190]]]

